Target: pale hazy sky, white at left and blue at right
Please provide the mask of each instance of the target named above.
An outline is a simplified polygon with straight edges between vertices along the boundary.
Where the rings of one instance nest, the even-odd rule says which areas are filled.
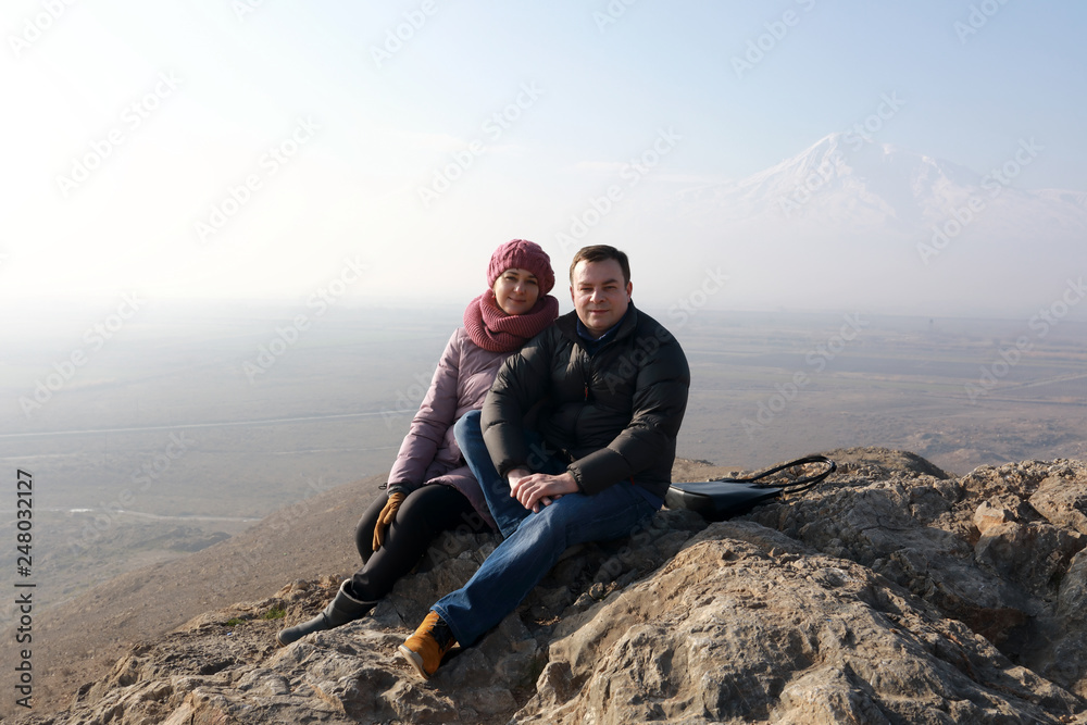
[[[1014,185],[1087,191],[1072,0],[8,0],[0,30],[5,305],[455,302],[523,237],[560,279],[614,243],[637,299],[742,309],[708,280],[773,270],[659,201],[887,98],[880,141],[984,172],[1037,138]]]

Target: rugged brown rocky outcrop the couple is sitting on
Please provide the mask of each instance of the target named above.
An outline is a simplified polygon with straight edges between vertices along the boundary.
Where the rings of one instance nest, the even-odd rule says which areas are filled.
[[[339,575],[204,614],[22,722],[1087,724],[1087,465],[829,454],[795,500],[570,552],[427,683],[396,646],[489,536],[443,537],[371,616],[288,648]]]

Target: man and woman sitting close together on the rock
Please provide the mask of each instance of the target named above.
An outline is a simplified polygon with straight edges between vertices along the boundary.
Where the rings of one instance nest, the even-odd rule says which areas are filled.
[[[675,338],[630,301],[626,254],[579,250],[574,312],[558,320],[538,245],[499,247],[487,284],[438,361],[387,499],[359,522],[362,568],[279,645],[365,615],[441,532],[489,525],[502,542],[399,648],[428,678],[454,643],[514,611],[567,547],[628,536],[663,505],[690,373]]]

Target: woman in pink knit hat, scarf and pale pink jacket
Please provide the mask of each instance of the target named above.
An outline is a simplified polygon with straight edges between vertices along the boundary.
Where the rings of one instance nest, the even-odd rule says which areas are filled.
[[[554,287],[550,258],[525,239],[495,251],[487,284],[490,288],[468,303],[464,326],[438,360],[430,389],[389,472],[388,496],[378,497],[359,522],[355,546],[362,568],[345,579],[321,614],[277,634],[280,646],[365,615],[441,532],[464,524],[478,530],[482,522],[496,528],[453,438],[453,424],[483,407],[499,366],[554,322],[559,302],[548,295]]]

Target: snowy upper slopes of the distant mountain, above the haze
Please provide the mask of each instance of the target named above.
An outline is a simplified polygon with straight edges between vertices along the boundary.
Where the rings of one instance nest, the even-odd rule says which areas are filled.
[[[683,199],[703,211],[709,203],[722,220],[833,223],[842,232],[924,234],[967,217],[966,224],[1004,232],[1009,225],[1038,232],[1039,222],[1087,232],[1087,193],[1013,186],[1039,149],[1024,139],[1000,168],[978,173],[855,134],[832,134],[765,171],[690,189]]]

